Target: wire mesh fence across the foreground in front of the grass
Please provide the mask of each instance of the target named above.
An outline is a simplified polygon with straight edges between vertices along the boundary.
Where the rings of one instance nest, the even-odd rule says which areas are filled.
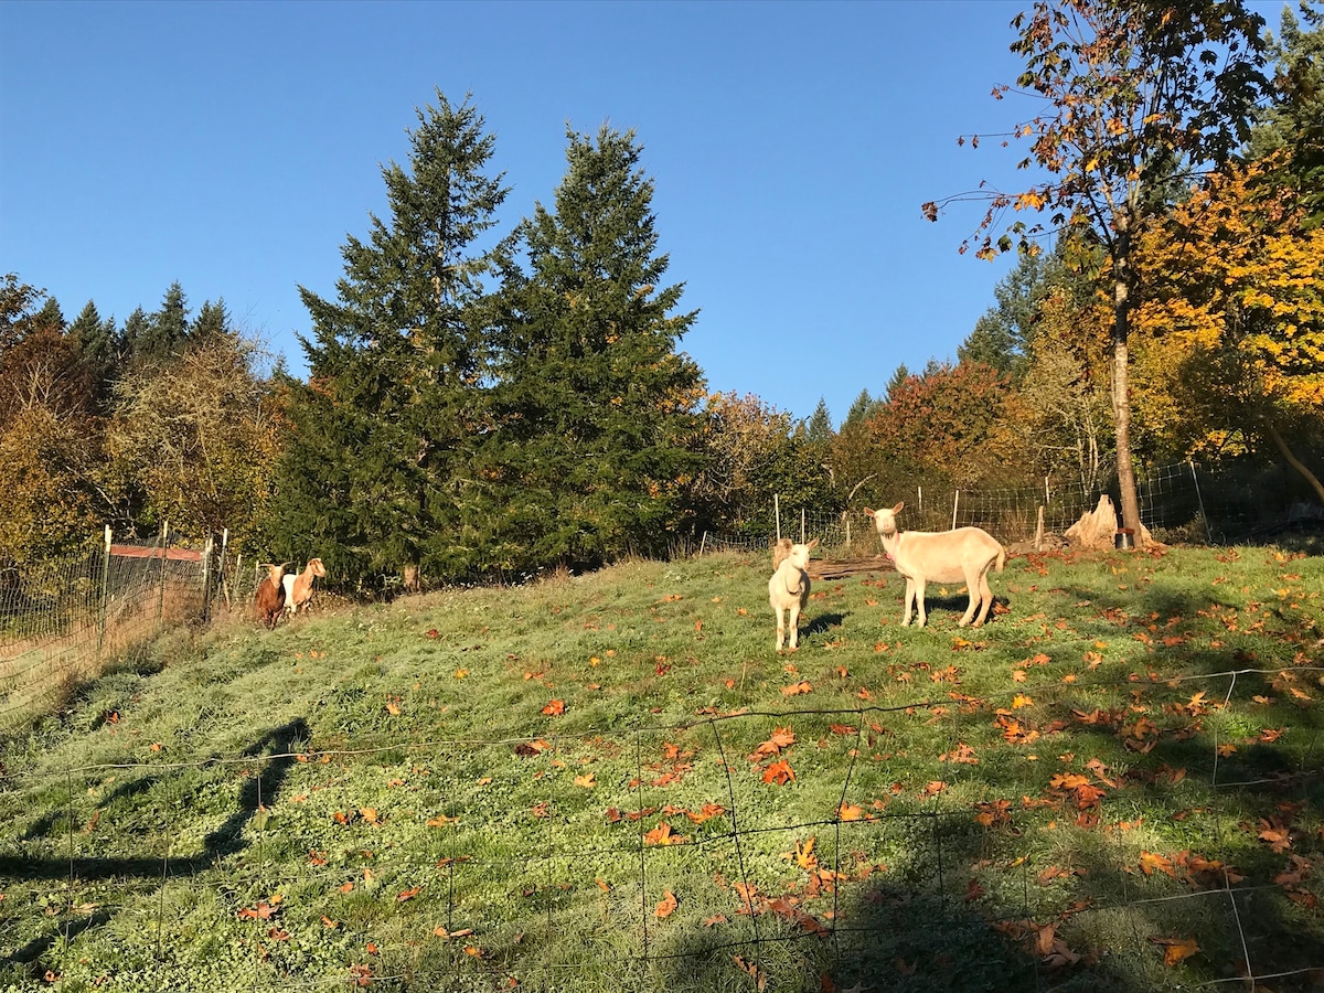
[[[1193,699],[1198,694],[1226,707],[1250,703],[1262,681],[1320,673],[1315,666],[1239,669],[1162,685],[1180,683]],[[1135,686],[1128,678],[1035,687],[1039,726],[1068,716],[1091,692],[1128,699]],[[518,977],[520,989],[556,990],[572,985],[567,977],[577,972],[600,972],[604,957],[637,969],[621,978],[621,989],[663,988],[669,970],[710,974],[710,988],[720,978],[723,988],[763,989],[769,977],[775,988],[779,980],[785,988],[789,976],[804,976],[806,964],[842,986],[862,973],[886,986],[876,969],[899,959],[894,980],[903,981],[914,928],[939,929],[956,945],[968,940],[1001,949],[997,967],[1016,989],[1047,989],[1070,974],[1083,960],[1080,941],[1088,935],[1129,933],[1132,947],[1112,951],[1143,961],[1174,928],[1198,931],[1202,948],[1241,949],[1239,973],[1197,984],[1205,988],[1256,989],[1275,980],[1304,989],[1321,974],[1324,948],[1299,943],[1296,951],[1283,951],[1291,944],[1283,943],[1283,922],[1303,911],[1319,914],[1309,886],[1263,871],[1242,878],[1226,859],[1221,834],[1221,825],[1247,816],[1247,797],[1256,790],[1279,801],[1290,801],[1298,788],[1303,800],[1308,796],[1321,775],[1317,728],[1280,756],[1291,761],[1284,759],[1274,775],[1258,775],[1253,764],[1231,757],[1233,726],[1217,722],[1215,707],[1200,753],[1186,744],[1190,739],[1169,733],[1158,748],[1137,751],[1131,768],[1086,767],[1090,775],[1082,780],[1094,793],[1046,789],[1039,797],[1004,800],[973,763],[953,760],[940,784],[896,780],[871,733],[880,722],[940,722],[956,752],[1013,706],[1010,691],[956,700],[959,694],[937,690],[891,706],[704,708],[710,712],[685,723],[612,732],[354,749],[319,748],[295,719],[265,730],[244,752],[205,760],[61,765],[38,757],[30,768],[11,769],[0,793],[0,875],[11,880],[8,914],[0,915],[0,961],[37,968],[60,943],[69,945],[127,916],[136,922],[136,935],[156,935],[155,947],[138,949],[136,968],[118,967],[117,988],[135,989],[467,989]],[[779,727],[793,727],[802,744],[757,756],[759,763],[786,757],[804,771],[809,763],[801,764],[801,749],[813,749],[812,775],[828,785],[820,790],[825,805],[818,816],[782,812],[777,790],[796,786],[767,779],[757,785],[759,763],[745,753]],[[718,760],[695,761],[663,782],[650,776],[647,760],[674,741]],[[1151,874],[1139,846],[1124,841],[1133,806],[1127,790],[1176,775],[1165,745],[1185,756],[1181,781],[1186,790],[1198,789],[1193,796],[1213,825],[1205,838],[1211,847],[1180,873]],[[526,806],[506,814],[506,822],[522,826],[518,847],[493,843],[489,812],[474,798],[475,771],[487,768],[491,749],[527,755],[539,773],[526,777],[536,785],[518,794]],[[569,785],[572,760],[585,749],[614,756],[614,764],[601,767],[612,769],[612,782],[604,775],[600,789]],[[1027,751],[1021,748],[1022,757]],[[416,773],[425,764],[425,785],[412,792],[408,808],[369,816],[375,794],[350,775],[359,761],[413,765]],[[146,820],[158,825],[154,833],[126,838],[115,834],[113,820],[98,825],[110,782],[152,810]],[[204,793],[232,796],[234,806],[199,842],[176,825]],[[50,809],[34,805],[34,796],[48,797]],[[1022,825],[1043,817],[1063,825],[1075,817],[1083,834],[1100,841],[1092,847],[1076,842],[1078,865],[1061,850],[1018,843]],[[613,839],[587,846],[583,825],[604,818]],[[683,826],[670,830],[677,824]],[[343,851],[318,841],[332,825]],[[287,855],[295,850],[308,850],[308,857],[294,862]],[[372,850],[391,851],[389,863]],[[1173,861],[1181,865],[1177,855]],[[361,896],[373,873],[380,887]],[[54,892],[52,884],[58,884]],[[376,927],[380,915],[352,914],[351,892],[379,910],[428,900],[434,931],[422,940],[384,936]],[[274,894],[291,898],[277,906]],[[670,898],[675,906],[663,914]],[[17,910],[29,900],[46,900],[46,914],[37,933],[19,933]],[[179,900],[212,902],[240,922],[249,957],[226,982],[197,985],[195,967],[172,947],[180,940]],[[1158,916],[1151,907],[1161,907]],[[352,923],[355,916],[363,923]],[[316,957],[308,957],[310,949],[328,933],[357,957],[311,965]],[[568,935],[575,940],[567,941]],[[735,981],[741,974],[744,986]],[[58,978],[45,976],[48,984]]]

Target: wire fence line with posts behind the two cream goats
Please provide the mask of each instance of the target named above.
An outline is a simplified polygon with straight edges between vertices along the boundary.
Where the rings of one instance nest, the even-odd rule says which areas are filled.
[[[1115,491],[1086,490],[1046,477],[1038,487],[907,486],[888,499],[906,503],[903,523],[908,531],[973,526],[1012,544],[1035,536],[1041,514],[1045,532],[1062,535],[1104,495],[1111,496],[1113,506],[1120,506]],[[1254,483],[1229,473],[1202,470],[1188,461],[1143,473],[1137,479],[1137,496],[1140,523],[1165,542],[1223,545],[1263,542],[1291,530],[1324,530],[1324,507],[1288,475]],[[818,538],[824,549],[837,555],[880,551],[873,522],[862,506],[825,512],[780,506],[776,499],[761,524],[755,523],[740,534],[704,534],[700,549],[755,552],[782,536],[801,542]]]

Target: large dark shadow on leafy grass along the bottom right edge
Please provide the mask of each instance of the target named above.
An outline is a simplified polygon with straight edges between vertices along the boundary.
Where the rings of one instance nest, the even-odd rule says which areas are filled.
[[[1103,849],[1079,853],[1071,874],[1045,882],[1042,869],[984,865],[986,835],[968,814],[894,818],[890,829],[886,820],[875,828],[899,834],[908,859],[835,895],[786,902],[814,915],[822,935],[797,925],[785,904],[781,919],[765,906],[759,941],[691,929],[650,963],[662,981],[643,988],[1145,993],[1241,988],[1246,961],[1256,977],[1275,977],[1279,993],[1324,982],[1324,933],[1303,924],[1279,887],[1162,879],[1156,888],[1170,883],[1165,892],[1137,898]],[[997,876],[1010,884],[998,888]],[[1168,941],[1184,939],[1198,952],[1165,964]]]

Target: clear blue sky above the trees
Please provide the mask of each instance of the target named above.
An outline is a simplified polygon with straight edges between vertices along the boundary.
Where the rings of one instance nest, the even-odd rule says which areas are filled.
[[[507,230],[551,204],[567,123],[634,128],[708,388],[839,422],[955,359],[1008,271],[957,254],[976,208],[920,204],[1025,183],[1023,147],[956,138],[1031,114],[990,97],[1029,5],[4,0],[0,273],[119,322],[179,281],[303,372],[297,287],[335,295],[414,109],[471,93]]]

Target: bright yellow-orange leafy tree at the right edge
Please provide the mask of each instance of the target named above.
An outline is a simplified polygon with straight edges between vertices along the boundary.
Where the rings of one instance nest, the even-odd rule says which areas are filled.
[[[1182,454],[1270,441],[1324,502],[1324,483],[1287,438],[1324,418],[1324,229],[1282,156],[1210,176],[1137,241],[1149,287],[1136,311],[1137,365]]]

